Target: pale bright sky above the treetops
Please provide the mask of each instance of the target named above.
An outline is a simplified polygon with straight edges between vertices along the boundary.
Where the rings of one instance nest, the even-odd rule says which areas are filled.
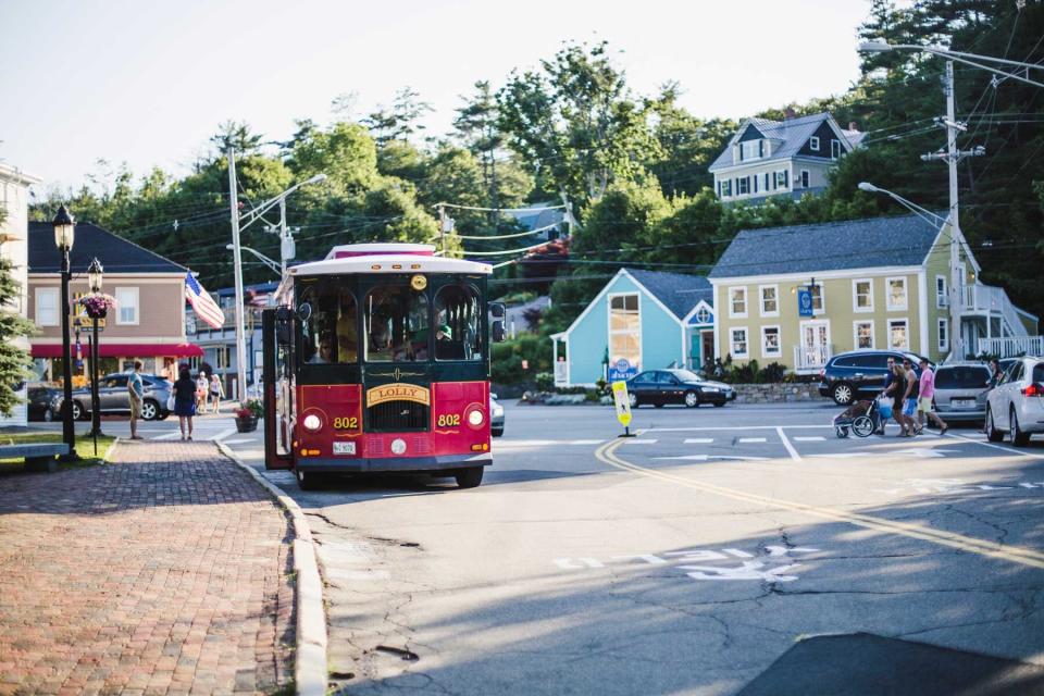
[[[564,41],[608,40],[637,95],[668,80],[698,117],[739,119],[858,77],[869,0],[0,0],[0,162],[78,187],[99,158],[184,175],[226,121],[287,139],[405,86],[450,129],[480,79],[500,86]]]

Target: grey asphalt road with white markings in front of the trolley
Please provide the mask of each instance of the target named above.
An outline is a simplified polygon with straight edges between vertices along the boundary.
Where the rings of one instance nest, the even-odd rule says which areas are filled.
[[[266,472],[321,545],[345,693],[1044,691],[1044,439],[837,439],[819,405],[639,409],[624,439],[611,409],[507,409],[475,489]],[[201,435],[260,467],[228,426]]]

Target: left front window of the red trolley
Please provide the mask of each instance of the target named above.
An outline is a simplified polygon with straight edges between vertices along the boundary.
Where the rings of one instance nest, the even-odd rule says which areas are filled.
[[[312,312],[301,323],[303,362],[330,364],[359,359],[356,297],[335,285],[311,286],[301,291],[301,304]]]

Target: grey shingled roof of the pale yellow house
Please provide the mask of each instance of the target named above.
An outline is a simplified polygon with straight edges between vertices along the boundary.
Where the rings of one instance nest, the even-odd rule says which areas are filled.
[[[709,277],[920,265],[939,234],[919,215],[744,229]]]

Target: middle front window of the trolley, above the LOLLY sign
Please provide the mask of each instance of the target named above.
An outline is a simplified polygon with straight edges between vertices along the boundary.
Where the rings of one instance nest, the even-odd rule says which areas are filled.
[[[375,287],[363,307],[366,360],[417,362],[428,357],[427,297],[405,285]]]

